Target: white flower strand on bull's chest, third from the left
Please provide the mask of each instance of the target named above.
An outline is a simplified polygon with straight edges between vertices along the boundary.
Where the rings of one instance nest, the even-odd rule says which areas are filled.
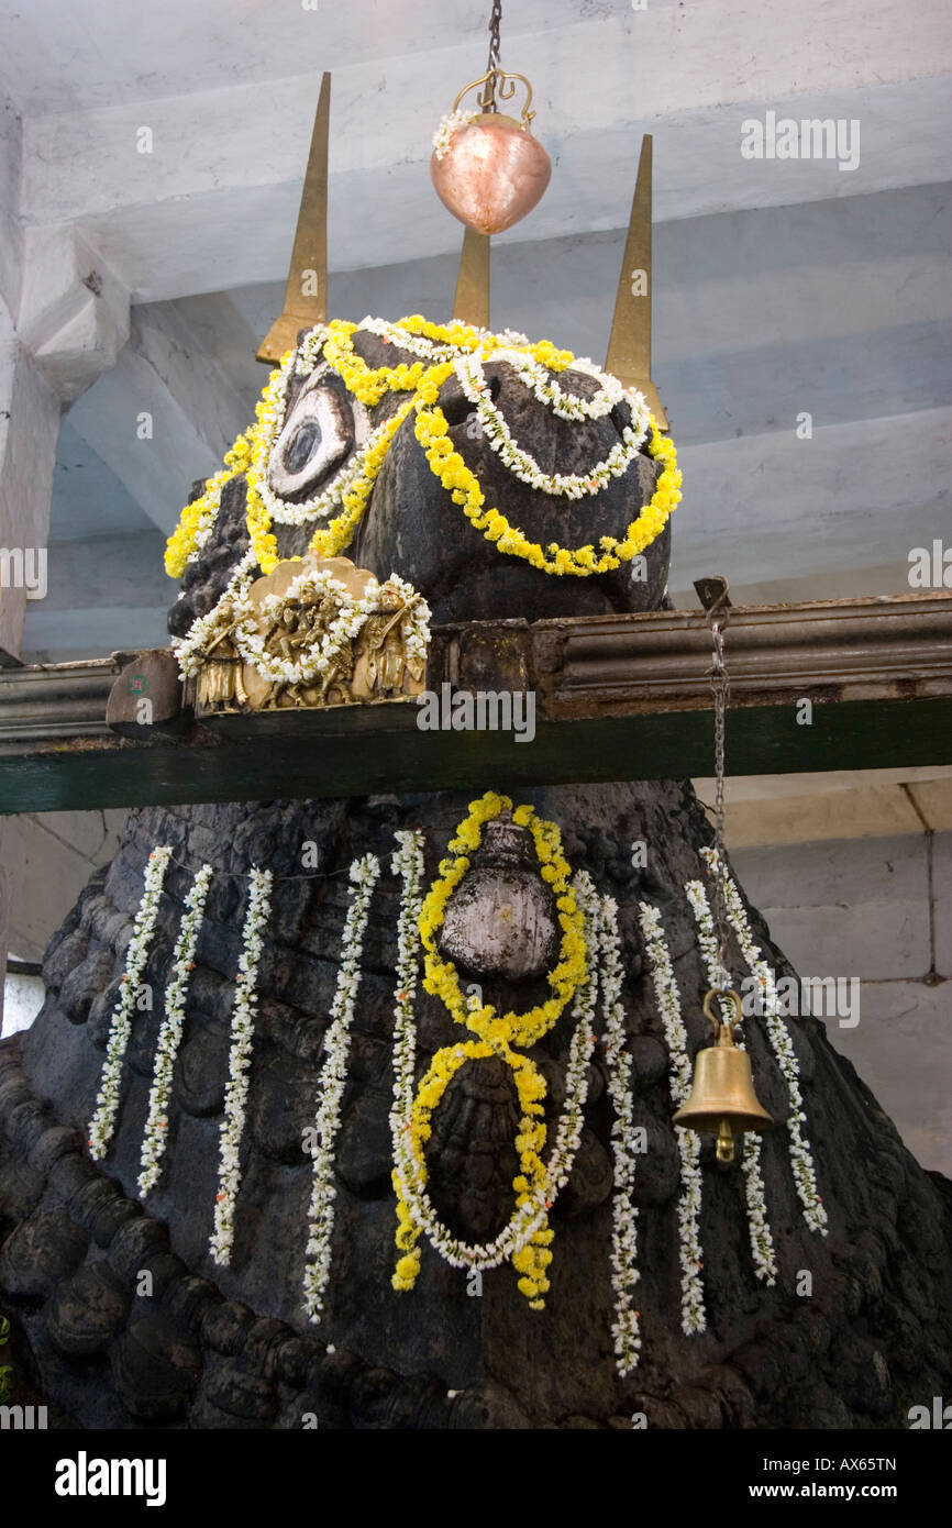
[[[220,1135],[219,1192],[215,1195],[215,1229],[208,1247],[212,1259],[226,1267],[235,1230],[235,1199],[241,1186],[241,1135],[248,1105],[251,1073],[251,1048],[254,1041],[255,1010],[258,1005],[257,983],[261,960],[261,929],[270,911],[272,874],[269,869],[251,871],[248,912],[241,929],[241,955],[235,981],[235,1005],[231,1016],[231,1051],[228,1056],[228,1086],[225,1089],[225,1118]]]

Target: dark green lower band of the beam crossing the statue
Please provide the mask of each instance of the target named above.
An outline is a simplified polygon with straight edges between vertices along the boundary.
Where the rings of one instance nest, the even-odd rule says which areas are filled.
[[[254,736],[255,718],[241,718],[241,738],[141,744],[99,735],[8,746],[0,811],[683,779],[714,769],[709,711],[542,721],[532,743],[498,732],[420,732],[417,715],[416,706],[388,706],[384,723],[353,711],[332,732],[324,718],[316,727],[313,714],[284,712],[261,715]],[[729,775],[940,764],[952,764],[952,697],[816,701],[810,726],[798,724],[795,704],[727,714]]]

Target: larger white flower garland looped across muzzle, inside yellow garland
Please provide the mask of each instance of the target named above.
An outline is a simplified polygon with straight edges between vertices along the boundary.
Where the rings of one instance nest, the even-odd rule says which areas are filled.
[[[497,350],[492,354],[492,361],[513,361],[516,356],[520,362],[524,359],[518,351]],[[602,461],[596,461],[594,466],[582,474],[542,472],[538,461],[512,439],[503,411],[494,403],[486,387],[483,361],[484,358],[478,351],[460,356],[455,374],[465,397],[477,410],[491,448],[520,483],[526,483],[542,494],[585,498],[587,495],[599,494],[611,478],[625,475],[651,429],[648,405],[640,393],[628,394],[633,425],[623,426],[622,439]],[[565,394],[561,396],[565,397]]]

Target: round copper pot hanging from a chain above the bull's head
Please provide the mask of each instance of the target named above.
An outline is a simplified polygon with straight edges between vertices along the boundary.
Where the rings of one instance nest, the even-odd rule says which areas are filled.
[[[515,95],[516,79],[526,86],[521,121],[495,110]],[[526,75],[491,69],[460,90],[452,115],[468,90],[484,86],[481,113],[451,131],[449,144],[434,148],[429,174],[443,206],[477,234],[501,234],[532,212],[552,176],[549,154],[532,136],[532,86]]]

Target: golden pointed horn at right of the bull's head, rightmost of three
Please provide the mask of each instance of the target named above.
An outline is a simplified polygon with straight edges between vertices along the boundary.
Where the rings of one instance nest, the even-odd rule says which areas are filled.
[[[659,429],[668,429],[665,405],[651,380],[651,134],[645,133],[605,371],[643,393]],[[642,272],[646,290],[636,296],[631,289]]]

